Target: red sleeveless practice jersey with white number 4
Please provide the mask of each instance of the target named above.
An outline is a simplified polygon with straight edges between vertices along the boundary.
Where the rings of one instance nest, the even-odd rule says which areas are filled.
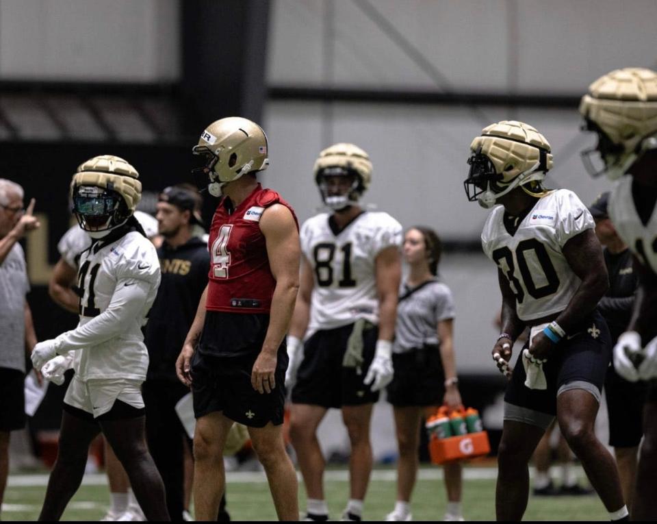
[[[269,313],[276,281],[269,266],[260,218],[280,203],[296,215],[276,191],[260,184],[234,210],[223,197],[212,217],[208,247],[210,272],[205,308],[231,313]]]

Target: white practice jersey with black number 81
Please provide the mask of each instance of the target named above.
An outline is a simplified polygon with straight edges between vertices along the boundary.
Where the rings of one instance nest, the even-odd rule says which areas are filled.
[[[330,216],[318,214],[301,227],[301,251],[315,280],[306,336],[357,319],[378,324],[376,255],[402,243],[402,226],[385,212],[363,212],[341,232],[331,229]]]

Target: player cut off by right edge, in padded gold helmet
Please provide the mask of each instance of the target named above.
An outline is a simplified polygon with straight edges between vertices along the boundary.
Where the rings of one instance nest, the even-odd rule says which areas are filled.
[[[582,97],[580,113],[597,145],[584,151],[593,175],[617,180],[608,214],[617,234],[634,254],[639,290],[626,332],[614,347],[619,375],[648,381],[643,434],[636,477],[633,520],[657,519],[657,73],[644,68],[612,71]],[[598,169],[591,159],[598,158]]]

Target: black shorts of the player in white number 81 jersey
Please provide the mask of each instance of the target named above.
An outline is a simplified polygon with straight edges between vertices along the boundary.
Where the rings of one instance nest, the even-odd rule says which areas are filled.
[[[361,406],[378,400],[372,384],[363,384],[374,360],[378,327],[368,324],[363,329],[363,362],[344,366],[347,340],[354,325],[315,332],[303,346],[303,360],[292,388],[292,402],[324,408]]]

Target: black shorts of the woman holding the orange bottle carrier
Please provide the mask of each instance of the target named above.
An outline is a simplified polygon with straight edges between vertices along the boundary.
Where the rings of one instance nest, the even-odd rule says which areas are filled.
[[[440,406],[445,396],[445,372],[438,346],[394,353],[395,375],[387,388],[393,406]]]

